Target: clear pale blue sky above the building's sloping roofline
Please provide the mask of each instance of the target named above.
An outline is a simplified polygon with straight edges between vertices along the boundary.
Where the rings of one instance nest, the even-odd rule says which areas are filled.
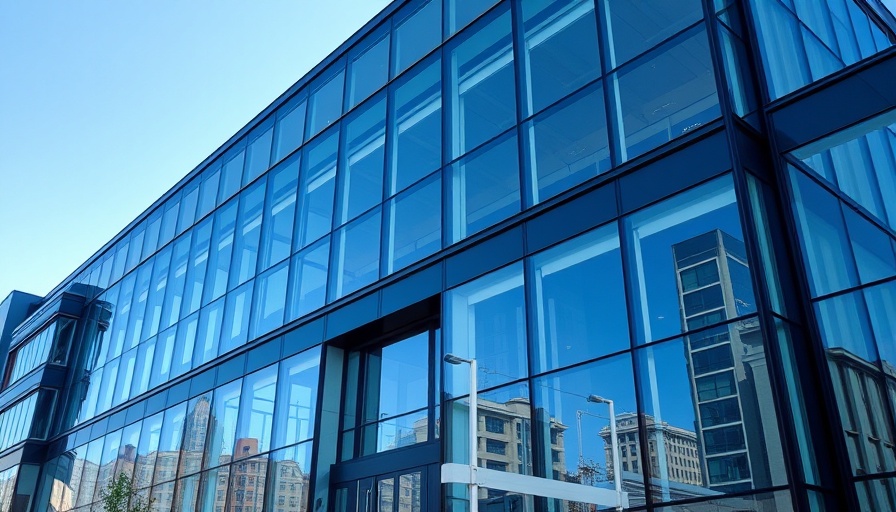
[[[0,300],[49,292],[388,3],[0,2]]]

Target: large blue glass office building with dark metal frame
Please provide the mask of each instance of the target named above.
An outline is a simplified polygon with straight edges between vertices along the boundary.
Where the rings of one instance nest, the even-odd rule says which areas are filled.
[[[886,4],[396,0],[0,303],[0,511],[896,510]]]

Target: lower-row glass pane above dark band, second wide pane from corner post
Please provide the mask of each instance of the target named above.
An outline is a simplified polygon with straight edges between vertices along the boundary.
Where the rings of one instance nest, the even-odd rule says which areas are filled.
[[[532,204],[610,169],[603,89],[587,91],[523,127]]]

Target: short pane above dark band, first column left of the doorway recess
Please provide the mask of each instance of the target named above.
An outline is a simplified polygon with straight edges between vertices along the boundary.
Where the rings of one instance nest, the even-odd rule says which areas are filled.
[[[289,271],[287,320],[295,320],[324,305],[329,262],[330,237],[293,256]]]

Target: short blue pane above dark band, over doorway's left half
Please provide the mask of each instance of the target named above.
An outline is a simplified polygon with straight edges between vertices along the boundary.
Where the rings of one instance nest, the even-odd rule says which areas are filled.
[[[363,288],[379,277],[381,217],[377,208],[334,235],[331,300]]]

